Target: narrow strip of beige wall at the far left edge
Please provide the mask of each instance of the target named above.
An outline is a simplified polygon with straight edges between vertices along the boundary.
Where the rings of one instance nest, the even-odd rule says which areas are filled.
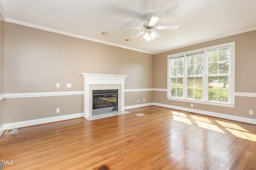
[[[4,94],[4,21],[0,15],[0,95]],[[4,124],[4,100],[0,101],[0,128]],[[0,132],[1,133],[1,132]]]

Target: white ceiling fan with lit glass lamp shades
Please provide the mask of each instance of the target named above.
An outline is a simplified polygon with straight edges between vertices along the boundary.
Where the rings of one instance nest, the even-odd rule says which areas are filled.
[[[140,32],[139,34],[137,34],[136,36],[134,36],[131,39],[137,38],[138,36],[140,36],[141,34],[146,32],[146,34],[143,36],[143,38],[146,41],[151,41],[151,40],[154,40],[156,38],[156,36],[160,37],[156,33],[156,31],[154,31],[154,29],[156,29],[156,30],[168,30],[168,29],[177,29],[178,28],[177,25],[174,25],[174,26],[155,26],[156,22],[159,19],[159,17],[157,17],[157,16],[147,16],[146,19],[148,20],[148,22],[145,22],[143,24],[143,27],[128,27],[128,29],[144,29],[144,31]]]

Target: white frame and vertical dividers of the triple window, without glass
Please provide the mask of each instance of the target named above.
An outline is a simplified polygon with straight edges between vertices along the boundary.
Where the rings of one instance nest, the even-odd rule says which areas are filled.
[[[208,75],[206,75],[206,71],[208,71],[208,54],[207,50],[227,47],[230,46],[230,59],[229,59],[229,79],[228,79],[228,98],[229,103],[226,102],[218,102],[218,101],[208,101],[207,98],[207,91],[205,90],[208,86]],[[186,64],[186,54],[188,53],[195,53],[197,51],[204,51],[204,75],[203,75],[203,100],[196,100],[196,99],[187,99],[187,64]],[[184,55],[184,74],[183,74],[183,98],[171,97],[171,77],[170,77],[170,58],[177,57]],[[176,53],[167,56],[167,63],[168,63],[168,73],[167,73],[167,99],[174,100],[174,101],[184,101],[189,103],[201,103],[206,105],[216,105],[216,106],[224,106],[224,107],[234,107],[235,106],[235,42],[224,43],[220,45],[214,45],[210,47],[205,47],[201,49],[196,49],[192,51],[186,51],[182,53]],[[208,89],[208,88],[207,88]]]

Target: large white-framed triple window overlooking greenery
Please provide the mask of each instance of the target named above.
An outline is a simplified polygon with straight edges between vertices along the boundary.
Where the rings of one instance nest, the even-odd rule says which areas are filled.
[[[168,99],[234,107],[234,45],[168,55]]]

